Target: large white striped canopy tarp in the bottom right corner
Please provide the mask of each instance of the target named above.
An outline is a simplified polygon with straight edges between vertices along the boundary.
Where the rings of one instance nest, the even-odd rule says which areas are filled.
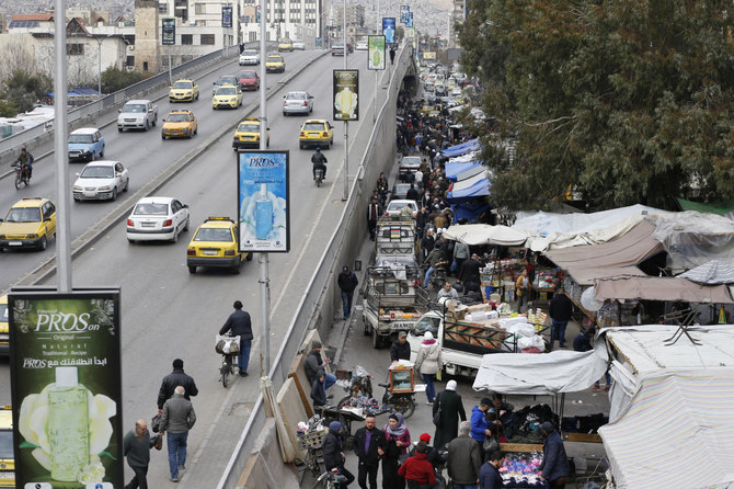
[[[734,487],[732,413],[732,367],[660,369],[640,376],[629,407],[599,429],[615,486]]]

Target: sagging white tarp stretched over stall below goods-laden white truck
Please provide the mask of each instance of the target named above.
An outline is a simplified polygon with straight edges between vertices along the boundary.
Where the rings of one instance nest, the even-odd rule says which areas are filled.
[[[607,372],[608,359],[603,341],[588,352],[486,354],[472,387],[518,395],[577,393],[592,387]]]

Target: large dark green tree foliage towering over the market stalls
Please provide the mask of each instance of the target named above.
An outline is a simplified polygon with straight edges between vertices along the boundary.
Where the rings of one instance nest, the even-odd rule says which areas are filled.
[[[734,197],[731,2],[469,1],[461,64],[485,89],[496,204],[570,185],[595,208]]]

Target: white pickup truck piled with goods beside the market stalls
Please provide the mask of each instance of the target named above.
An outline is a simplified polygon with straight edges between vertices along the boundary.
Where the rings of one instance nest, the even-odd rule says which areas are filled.
[[[500,328],[496,321],[470,320],[474,318],[465,316],[466,305],[448,303],[438,304],[421,316],[408,333],[411,362],[417,357],[426,331],[431,331],[441,346],[444,369],[449,375],[475,375],[482,356],[488,353],[519,352],[514,334]],[[472,307],[481,309],[483,305]]]

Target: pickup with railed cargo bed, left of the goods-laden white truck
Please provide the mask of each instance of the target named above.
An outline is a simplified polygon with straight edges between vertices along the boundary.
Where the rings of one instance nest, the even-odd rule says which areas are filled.
[[[390,264],[367,270],[362,316],[365,334],[372,337],[372,348],[392,341],[400,331],[410,331],[427,310],[428,294],[416,285],[420,269]]]

